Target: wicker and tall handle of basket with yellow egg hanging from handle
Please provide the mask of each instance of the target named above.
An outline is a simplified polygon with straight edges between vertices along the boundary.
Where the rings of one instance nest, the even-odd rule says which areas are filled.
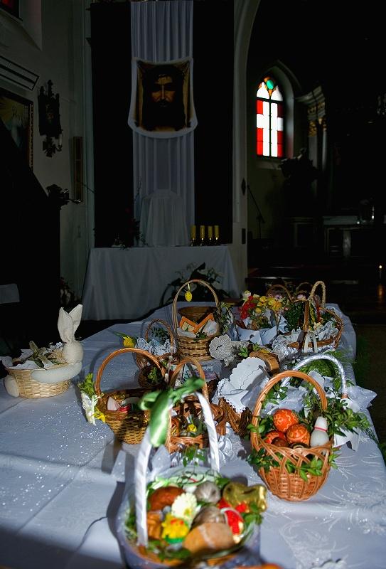
[[[203,285],[204,287],[208,287],[208,289],[210,289],[210,292],[212,292],[212,294],[213,294],[213,298],[214,298],[215,304],[216,304],[215,307],[204,307],[204,306],[202,306],[202,307],[197,307],[197,308],[200,308],[200,309],[205,308],[205,311],[208,311],[208,308],[209,308],[210,310],[208,312],[206,312],[207,315],[210,312],[212,312],[212,313],[215,312],[215,310],[218,308],[217,294],[215,293],[214,289],[208,284],[208,282],[205,282],[204,280],[200,280],[200,279],[188,280],[184,285],[182,285],[182,287],[180,289],[178,289],[178,292],[177,292],[177,294],[173,300],[172,317],[173,317],[173,326],[174,326],[174,329],[176,332],[178,329],[178,321],[177,321],[178,295],[191,282],[197,282],[198,284]],[[188,307],[188,308],[195,308],[195,307]],[[204,312],[204,314],[205,314],[205,312]],[[200,317],[198,317],[198,321],[200,321]],[[199,361],[212,359],[212,356],[210,356],[210,353],[209,353],[209,344],[213,340],[213,338],[215,338],[215,336],[219,336],[219,334],[220,334],[220,332],[218,331],[216,334],[212,334],[211,336],[208,336],[207,338],[204,338],[204,339],[188,338],[188,336],[178,336],[177,335],[177,346],[178,346],[179,358],[193,357],[193,358],[197,358]]]

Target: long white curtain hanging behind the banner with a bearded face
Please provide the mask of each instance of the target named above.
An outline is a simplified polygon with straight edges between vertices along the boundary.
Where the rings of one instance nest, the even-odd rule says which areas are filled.
[[[131,11],[133,57],[158,62],[193,55],[193,0],[132,2]],[[193,137],[193,132],[168,139],[133,132],[136,219],[144,196],[170,190],[183,198],[186,225],[194,223]]]

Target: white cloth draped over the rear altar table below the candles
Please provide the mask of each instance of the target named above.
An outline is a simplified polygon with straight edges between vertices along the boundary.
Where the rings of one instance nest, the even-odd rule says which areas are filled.
[[[226,245],[217,247],[139,247],[90,250],[82,317],[84,320],[133,320],[161,304],[168,283],[191,275],[188,265],[205,262],[221,275],[221,288],[240,296]],[[170,294],[169,289],[169,294]],[[167,297],[166,297],[167,299]],[[166,300],[165,299],[165,300]]]

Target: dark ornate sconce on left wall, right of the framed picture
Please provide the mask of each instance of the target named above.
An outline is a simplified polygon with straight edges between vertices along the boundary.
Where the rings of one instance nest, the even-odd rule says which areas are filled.
[[[59,95],[53,94],[53,82],[48,80],[48,90],[45,93],[41,87],[38,96],[39,107],[39,134],[45,135],[43,150],[51,157],[62,149],[62,127],[60,126]]]

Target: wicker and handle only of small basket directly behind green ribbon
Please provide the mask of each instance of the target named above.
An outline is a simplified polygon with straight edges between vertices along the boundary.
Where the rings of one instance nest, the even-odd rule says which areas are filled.
[[[202,366],[200,365],[200,362],[195,358],[185,358],[180,361],[180,363],[178,363],[176,368],[173,370],[169,385],[174,385],[178,376],[178,372],[181,371],[186,363],[193,363],[193,365],[198,369],[200,378],[205,380],[205,373]],[[208,385],[204,383],[201,390],[205,399],[209,403]],[[226,420],[223,410],[219,405],[215,405],[214,403],[209,403],[209,405],[210,410],[212,411],[213,420],[216,423],[216,431],[218,432],[218,435],[225,435]],[[187,418],[188,415],[198,415],[198,413],[201,411],[201,405],[195,397],[189,396],[185,398],[183,403],[176,405],[173,410],[176,411],[177,415],[180,415],[183,418]],[[169,452],[176,452],[178,450],[181,450],[183,447],[192,445],[198,446],[199,448],[208,447],[208,435],[205,433],[198,435],[197,437],[183,437],[179,435],[172,435],[175,420],[175,417],[171,417],[171,427],[169,429],[168,438],[165,443],[165,446]]]

